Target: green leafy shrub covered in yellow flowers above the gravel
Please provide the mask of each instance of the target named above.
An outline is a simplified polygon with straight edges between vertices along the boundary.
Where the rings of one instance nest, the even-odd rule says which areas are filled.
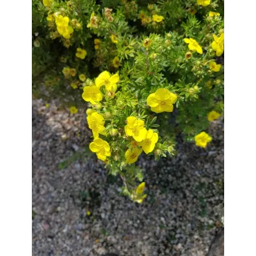
[[[141,203],[140,154],[205,148],[223,113],[224,1],[33,0],[33,96],[86,107],[92,152]]]

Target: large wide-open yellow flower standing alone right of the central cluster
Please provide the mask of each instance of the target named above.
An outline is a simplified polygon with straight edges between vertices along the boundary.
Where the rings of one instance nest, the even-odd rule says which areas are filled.
[[[172,112],[176,99],[177,96],[167,89],[157,89],[147,97],[147,104],[151,107],[151,111],[156,113]]]

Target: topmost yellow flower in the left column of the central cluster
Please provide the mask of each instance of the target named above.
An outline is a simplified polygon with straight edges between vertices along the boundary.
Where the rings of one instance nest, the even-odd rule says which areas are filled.
[[[116,84],[118,83],[118,81],[119,81],[118,73],[111,76],[108,71],[103,71],[95,79],[95,84],[98,88],[104,85],[107,91],[116,92],[118,88]]]

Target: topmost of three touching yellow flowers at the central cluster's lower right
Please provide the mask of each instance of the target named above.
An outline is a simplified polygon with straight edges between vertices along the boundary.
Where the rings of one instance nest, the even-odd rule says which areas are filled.
[[[133,136],[134,140],[138,142],[145,140],[147,129],[144,127],[144,121],[134,116],[129,116],[127,118],[127,125],[125,125],[125,134]]]

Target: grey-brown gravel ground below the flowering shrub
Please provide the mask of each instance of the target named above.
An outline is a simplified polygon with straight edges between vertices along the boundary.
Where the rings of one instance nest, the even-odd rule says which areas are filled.
[[[82,111],[37,100],[33,122],[34,255],[207,255],[224,215],[223,120],[212,122],[206,150],[177,143],[173,158],[140,157],[148,194],[140,205],[83,152],[91,131]]]

